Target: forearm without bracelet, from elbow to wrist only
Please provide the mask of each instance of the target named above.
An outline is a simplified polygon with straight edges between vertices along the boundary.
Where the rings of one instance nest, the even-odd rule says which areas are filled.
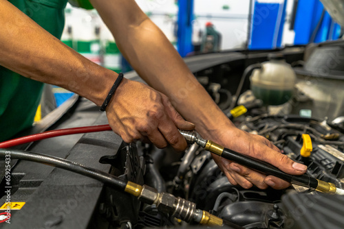
[[[178,112],[196,124],[197,130],[204,132],[218,127],[224,118],[222,111],[197,82],[173,45],[151,21],[144,21],[140,27],[129,37],[135,54],[125,51],[136,71],[150,86],[167,95]],[[138,39],[142,37],[150,37],[151,41]]]

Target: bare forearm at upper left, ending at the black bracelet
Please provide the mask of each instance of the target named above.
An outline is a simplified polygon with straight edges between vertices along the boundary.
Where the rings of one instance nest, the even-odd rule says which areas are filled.
[[[0,15],[3,67],[66,88],[97,105],[103,102],[116,73],[70,49],[8,1],[0,1]]]

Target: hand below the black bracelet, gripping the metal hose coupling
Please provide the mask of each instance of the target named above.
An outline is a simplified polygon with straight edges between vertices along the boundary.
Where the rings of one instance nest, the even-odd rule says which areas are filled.
[[[175,150],[182,151],[187,144],[178,129],[195,128],[180,116],[166,95],[125,78],[106,111],[112,130],[126,143],[149,139],[158,148],[169,143]]]

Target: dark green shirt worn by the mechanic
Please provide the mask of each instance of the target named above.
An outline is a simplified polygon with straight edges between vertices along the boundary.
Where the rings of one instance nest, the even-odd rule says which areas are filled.
[[[67,0],[9,1],[47,32],[58,39],[61,38]],[[42,90],[43,83],[0,66],[0,141],[5,141],[32,126]]]

